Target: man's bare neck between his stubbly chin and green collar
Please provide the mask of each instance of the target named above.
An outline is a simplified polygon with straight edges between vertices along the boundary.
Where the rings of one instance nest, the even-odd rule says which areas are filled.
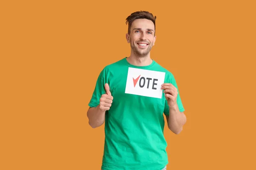
[[[130,64],[137,66],[147,66],[152,63],[152,59],[150,58],[149,54],[145,57],[130,55],[130,57],[127,57],[126,59]]]

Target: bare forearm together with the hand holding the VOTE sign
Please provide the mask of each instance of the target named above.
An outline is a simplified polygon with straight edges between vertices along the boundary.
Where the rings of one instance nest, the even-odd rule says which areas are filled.
[[[171,83],[164,83],[162,89],[169,107],[169,115],[166,116],[168,127],[173,133],[179,134],[186,123],[186,115],[180,112],[177,105],[177,88]]]

